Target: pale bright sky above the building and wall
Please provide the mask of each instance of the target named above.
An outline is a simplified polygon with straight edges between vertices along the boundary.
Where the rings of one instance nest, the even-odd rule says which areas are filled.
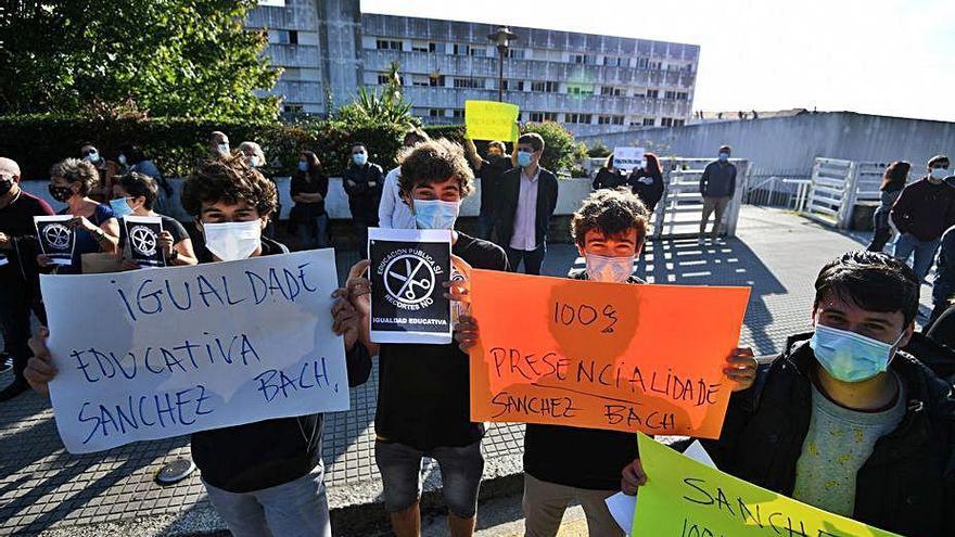
[[[699,44],[696,110],[955,122],[955,0],[361,0],[361,11]]]

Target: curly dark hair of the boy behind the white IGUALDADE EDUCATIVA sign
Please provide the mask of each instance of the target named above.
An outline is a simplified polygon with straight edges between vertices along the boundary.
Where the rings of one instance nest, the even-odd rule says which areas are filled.
[[[218,202],[246,202],[259,216],[268,216],[276,209],[278,200],[275,183],[238,156],[203,162],[182,184],[182,208],[194,217],[202,213],[203,203]]]

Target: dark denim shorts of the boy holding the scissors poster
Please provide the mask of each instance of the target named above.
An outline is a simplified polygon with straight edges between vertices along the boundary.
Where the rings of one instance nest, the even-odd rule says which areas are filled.
[[[441,469],[442,493],[448,511],[459,519],[478,512],[478,493],[484,474],[481,440],[464,447],[436,447],[422,451],[396,442],[374,440],[374,459],[384,485],[384,507],[404,511],[421,498],[421,459],[431,457]]]

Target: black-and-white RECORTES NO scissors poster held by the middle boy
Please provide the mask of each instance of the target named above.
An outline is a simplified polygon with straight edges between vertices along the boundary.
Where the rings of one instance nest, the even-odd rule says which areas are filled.
[[[368,230],[371,341],[451,343],[450,230]]]

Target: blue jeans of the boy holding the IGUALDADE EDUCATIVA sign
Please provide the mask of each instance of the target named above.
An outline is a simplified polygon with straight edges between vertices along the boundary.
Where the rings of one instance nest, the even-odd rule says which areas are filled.
[[[297,480],[244,494],[203,484],[235,537],[331,537],[323,474],[319,463]]]

